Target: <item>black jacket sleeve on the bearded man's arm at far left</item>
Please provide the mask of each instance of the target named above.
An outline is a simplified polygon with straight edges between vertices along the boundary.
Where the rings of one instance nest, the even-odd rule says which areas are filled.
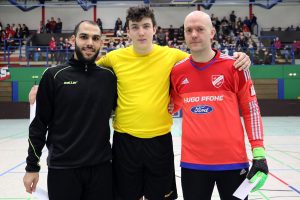
[[[52,119],[53,93],[53,78],[49,70],[46,70],[37,92],[35,117],[29,125],[29,148],[25,168],[27,172],[38,172],[40,170],[40,157],[46,143],[48,126]]]

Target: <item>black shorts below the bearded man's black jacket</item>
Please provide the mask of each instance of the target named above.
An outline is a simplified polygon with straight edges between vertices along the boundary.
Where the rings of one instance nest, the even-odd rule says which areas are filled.
[[[48,169],[49,200],[113,200],[110,161],[91,167]]]

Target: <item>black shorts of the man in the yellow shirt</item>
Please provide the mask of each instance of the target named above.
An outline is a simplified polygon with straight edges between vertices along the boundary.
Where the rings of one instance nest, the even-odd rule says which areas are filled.
[[[114,132],[116,200],[177,199],[172,135],[150,139]]]

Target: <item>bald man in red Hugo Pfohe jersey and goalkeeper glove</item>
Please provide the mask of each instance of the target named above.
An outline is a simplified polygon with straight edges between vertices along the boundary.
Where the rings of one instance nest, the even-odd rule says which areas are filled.
[[[264,184],[268,166],[263,126],[249,70],[238,71],[234,59],[211,48],[215,35],[209,15],[190,13],[184,22],[191,56],[171,72],[174,112],[183,110],[181,178],[185,200],[211,199],[217,185],[221,199],[237,199],[234,191],[247,177]],[[253,152],[249,163],[242,111]]]

